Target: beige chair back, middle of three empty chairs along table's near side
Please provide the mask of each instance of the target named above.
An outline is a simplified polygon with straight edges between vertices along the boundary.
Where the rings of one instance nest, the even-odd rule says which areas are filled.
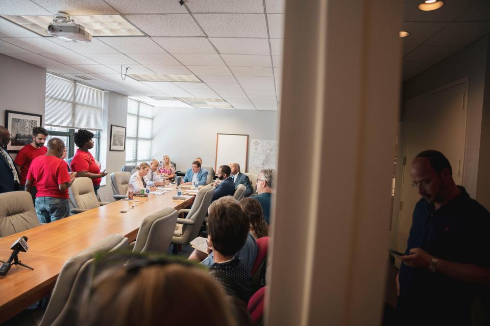
[[[166,253],[174,235],[177,216],[179,213],[171,207],[146,216],[139,227],[133,252]]]

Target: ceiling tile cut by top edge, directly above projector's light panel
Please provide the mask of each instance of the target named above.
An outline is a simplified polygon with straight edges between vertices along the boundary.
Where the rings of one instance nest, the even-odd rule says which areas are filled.
[[[100,0],[35,0],[35,2],[52,13],[62,11],[70,16],[119,14],[114,8]]]

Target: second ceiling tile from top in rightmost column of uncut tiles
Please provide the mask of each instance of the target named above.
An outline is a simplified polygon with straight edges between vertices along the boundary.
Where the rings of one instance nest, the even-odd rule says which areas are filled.
[[[195,14],[209,37],[267,38],[263,14]]]

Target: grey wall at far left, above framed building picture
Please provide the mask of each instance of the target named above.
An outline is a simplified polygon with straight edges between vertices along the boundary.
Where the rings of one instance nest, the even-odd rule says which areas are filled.
[[[41,114],[44,126],[45,93],[46,69],[0,55],[0,125],[11,110]]]

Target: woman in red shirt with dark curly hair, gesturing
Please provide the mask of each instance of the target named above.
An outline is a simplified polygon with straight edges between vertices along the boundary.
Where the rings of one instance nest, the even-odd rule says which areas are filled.
[[[93,190],[97,195],[97,190],[100,188],[102,178],[107,175],[106,170],[101,172],[99,162],[93,158],[88,151],[93,148],[93,133],[86,129],[80,129],[74,134],[74,142],[78,149],[75,156],[71,160],[71,171],[77,172],[79,177],[87,177],[92,179]]]

